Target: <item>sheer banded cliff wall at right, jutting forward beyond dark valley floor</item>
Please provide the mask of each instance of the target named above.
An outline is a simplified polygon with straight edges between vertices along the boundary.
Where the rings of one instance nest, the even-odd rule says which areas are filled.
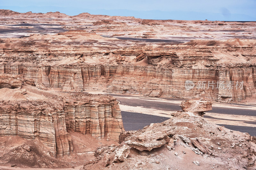
[[[126,71],[133,69],[132,72]],[[116,73],[115,80],[108,85],[107,92],[148,94],[151,89],[161,89],[162,95],[166,97],[205,97],[217,101],[241,101],[256,92],[253,85],[253,69],[255,68],[211,70],[128,67],[122,69],[119,75]],[[124,76],[127,78],[122,79]],[[193,83],[191,89],[186,88],[186,81]],[[217,87],[218,82],[223,83],[223,88],[220,85]],[[229,87],[230,82],[232,86]],[[242,87],[236,88],[236,82],[239,85],[243,82]]]

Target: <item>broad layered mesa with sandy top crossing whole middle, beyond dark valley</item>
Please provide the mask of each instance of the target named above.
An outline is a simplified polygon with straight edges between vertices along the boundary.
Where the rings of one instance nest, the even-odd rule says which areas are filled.
[[[255,40],[151,43],[86,31],[1,39],[0,73],[38,88],[241,101],[256,94]]]

